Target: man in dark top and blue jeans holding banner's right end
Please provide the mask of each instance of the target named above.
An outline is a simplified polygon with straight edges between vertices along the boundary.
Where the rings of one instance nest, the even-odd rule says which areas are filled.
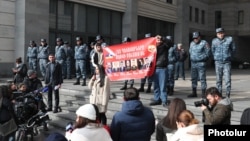
[[[163,43],[163,38],[160,35],[156,36],[156,68],[153,74],[154,81],[154,101],[150,103],[153,105],[161,105],[166,107],[167,103],[167,88],[166,83],[168,80],[168,50],[169,47]]]

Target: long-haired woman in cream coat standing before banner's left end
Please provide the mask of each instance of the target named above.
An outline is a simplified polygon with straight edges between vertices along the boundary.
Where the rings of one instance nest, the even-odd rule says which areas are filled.
[[[95,74],[88,84],[88,87],[92,90],[89,102],[97,105],[100,113],[100,121],[103,125],[106,125],[107,117],[105,113],[107,111],[110,96],[110,84],[108,77],[105,75],[104,67],[102,65],[97,65],[95,69]]]

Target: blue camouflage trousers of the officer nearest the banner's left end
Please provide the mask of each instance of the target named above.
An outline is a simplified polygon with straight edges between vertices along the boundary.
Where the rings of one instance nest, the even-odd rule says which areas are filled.
[[[81,76],[86,79],[86,61],[76,60],[76,78],[79,79]]]

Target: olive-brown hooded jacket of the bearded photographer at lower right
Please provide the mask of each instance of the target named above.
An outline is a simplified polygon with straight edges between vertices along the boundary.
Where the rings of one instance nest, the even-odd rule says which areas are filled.
[[[205,124],[206,125],[221,125],[231,123],[231,111],[233,104],[229,98],[224,98],[219,101],[212,110],[205,109]]]

